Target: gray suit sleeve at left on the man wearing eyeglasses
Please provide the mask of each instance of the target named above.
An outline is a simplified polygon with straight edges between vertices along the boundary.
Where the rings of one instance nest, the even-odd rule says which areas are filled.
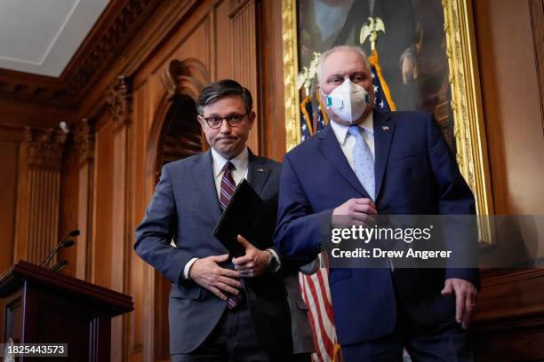
[[[163,168],[146,215],[136,229],[134,250],[143,260],[180,287],[185,264],[194,256],[170,245],[178,227],[178,215],[167,168]]]

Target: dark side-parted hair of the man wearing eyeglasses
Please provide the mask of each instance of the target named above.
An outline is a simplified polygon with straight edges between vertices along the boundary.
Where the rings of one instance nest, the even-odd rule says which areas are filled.
[[[244,101],[245,111],[250,113],[253,109],[252,93],[240,83],[232,79],[222,79],[206,85],[198,95],[198,114],[204,113],[204,106],[209,106],[221,98],[239,96]]]

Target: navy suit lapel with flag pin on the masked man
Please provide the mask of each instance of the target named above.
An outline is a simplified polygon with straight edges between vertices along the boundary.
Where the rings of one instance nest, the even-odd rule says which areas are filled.
[[[391,141],[395,134],[396,122],[389,113],[374,112],[374,177],[376,182],[376,200],[380,196],[381,184],[388,164]]]

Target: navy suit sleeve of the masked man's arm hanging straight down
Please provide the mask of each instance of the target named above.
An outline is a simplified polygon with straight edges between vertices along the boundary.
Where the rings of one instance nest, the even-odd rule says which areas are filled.
[[[445,271],[445,279],[467,279],[478,287],[477,269],[460,267],[477,264],[476,217],[471,217],[476,214],[474,196],[460,174],[438,124],[430,114],[427,130],[428,153],[436,177],[444,243],[454,256]]]

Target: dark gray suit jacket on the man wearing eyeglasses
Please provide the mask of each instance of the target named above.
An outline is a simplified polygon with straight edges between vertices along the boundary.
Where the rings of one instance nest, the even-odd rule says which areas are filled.
[[[249,154],[248,182],[259,193],[270,215],[269,240],[276,225],[278,185],[281,165],[263,157]],[[188,353],[195,350],[217,325],[227,303],[192,280],[181,278],[183,268],[193,257],[218,256],[228,253],[213,235],[220,219],[220,203],[214,184],[210,151],[174,161],[164,166],[156,192],[136,230],[134,249],[148,264],[172,281],[169,303],[170,351]],[[177,248],[170,245],[173,239]],[[251,241],[251,240],[250,240]],[[233,268],[227,263],[224,267]],[[264,274],[255,279],[243,279],[247,303],[263,347],[275,354],[292,353],[292,329],[286,291],[280,274]],[[292,288],[290,288],[292,289]],[[298,297],[296,293],[298,292]],[[290,290],[290,300],[300,304],[300,290]],[[306,314],[299,308],[295,311]],[[293,309],[291,308],[293,311]],[[308,319],[297,314],[297,330],[306,330]],[[294,315],[293,315],[294,318]],[[300,325],[300,319],[306,327]],[[295,329],[295,328],[293,328]],[[309,334],[311,340],[311,334]],[[300,346],[295,336],[296,350],[313,350]]]

